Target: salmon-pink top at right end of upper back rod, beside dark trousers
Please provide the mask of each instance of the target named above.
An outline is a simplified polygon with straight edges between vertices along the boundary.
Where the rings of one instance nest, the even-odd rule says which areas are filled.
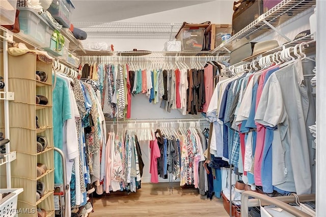
[[[205,103],[203,105],[203,112],[207,112],[210,99],[212,98],[214,91],[213,83],[213,66],[207,64],[204,68],[204,85],[205,85]]]

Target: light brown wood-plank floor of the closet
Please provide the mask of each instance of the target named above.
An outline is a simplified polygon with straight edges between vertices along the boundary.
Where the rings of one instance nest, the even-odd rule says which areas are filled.
[[[114,192],[93,198],[94,212],[101,216],[219,216],[227,217],[222,198],[212,200],[199,195],[198,189],[182,189],[174,182],[173,193],[169,183],[142,183],[137,193]]]

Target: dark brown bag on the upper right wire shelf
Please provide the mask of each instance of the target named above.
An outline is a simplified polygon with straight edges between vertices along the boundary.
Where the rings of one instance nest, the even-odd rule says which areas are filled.
[[[263,0],[239,0],[233,3],[232,35],[257,19],[264,12]]]

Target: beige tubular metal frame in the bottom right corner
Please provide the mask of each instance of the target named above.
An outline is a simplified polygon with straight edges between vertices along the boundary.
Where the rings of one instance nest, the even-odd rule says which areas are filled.
[[[305,201],[315,201],[316,195],[297,195],[300,202]],[[249,197],[254,197],[255,199],[249,199]],[[261,201],[260,201],[261,200]],[[295,203],[295,197],[290,196],[281,196],[281,197],[269,197],[267,195],[259,194],[257,192],[246,191],[241,194],[241,217],[248,217],[248,207],[254,206],[265,206],[265,205],[276,205],[277,207],[295,215],[301,217],[309,217],[307,213],[294,208],[293,206],[287,203]]]

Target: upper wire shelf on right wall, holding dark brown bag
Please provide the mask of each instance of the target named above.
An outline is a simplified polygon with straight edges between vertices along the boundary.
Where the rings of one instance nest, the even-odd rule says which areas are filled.
[[[287,20],[313,7],[315,4],[315,0],[284,0],[274,8],[259,16],[258,19],[240,30],[226,42],[216,47],[212,52],[229,52],[230,50],[234,50],[271,30],[265,21],[274,27],[279,26]]]

